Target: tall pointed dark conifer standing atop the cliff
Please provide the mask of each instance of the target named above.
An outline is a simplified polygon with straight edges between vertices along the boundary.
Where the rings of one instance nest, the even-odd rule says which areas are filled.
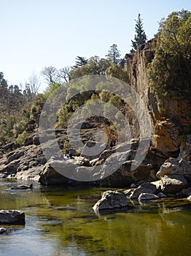
[[[147,41],[147,36],[143,29],[143,23],[141,20],[140,13],[138,15],[137,20],[135,21],[136,21],[136,26],[135,26],[136,34],[135,34],[134,40],[131,40],[133,48],[130,50],[130,53],[134,53],[139,45]]]

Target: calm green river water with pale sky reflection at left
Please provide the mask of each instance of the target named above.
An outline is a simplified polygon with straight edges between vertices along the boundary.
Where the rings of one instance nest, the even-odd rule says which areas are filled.
[[[0,255],[191,255],[188,200],[135,200],[127,212],[98,216],[92,206],[106,188],[10,189],[15,185],[0,181],[0,209],[25,211],[26,225],[0,225],[7,228]]]

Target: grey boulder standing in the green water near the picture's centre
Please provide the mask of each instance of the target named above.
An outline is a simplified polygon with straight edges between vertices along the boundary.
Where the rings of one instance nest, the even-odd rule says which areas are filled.
[[[122,190],[108,190],[103,193],[101,200],[93,206],[94,211],[111,210],[116,208],[127,207],[128,201]]]

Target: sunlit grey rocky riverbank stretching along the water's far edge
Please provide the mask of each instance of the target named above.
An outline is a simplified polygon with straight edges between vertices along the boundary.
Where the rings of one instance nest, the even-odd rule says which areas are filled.
[[[64,131],[58,134],[57,140],[60,148],[64,142]],[[51,132],[50,132],[51,137]],[[44,142],[46,148],[52,150],[55,141]],[[102,186],[121,187],[130,190],[130,198],[138,198],[141,193],[152,193],[157,196],[188,197],[191,195],[191,135],[180,147],[177,158],[167,158],[157,148],[149,147],[144,161],[136,167],[136,154],[140,141],[132,139],[129,142],[121,143],[112,149],[105,149],[95,159],[87,159],[79,156],[72,159],[63,157],[61,151],[56,151],[55,156],[48,161],[42,152],[42,146],[36,134],[26,139],[26,146],[3,154],[0,158],[0,177],[15,179],[31,179],[39,181],[46,186]],[[60,149],[59,148],[59,149]],[[128,148],[128,151],[127,151]],[[122,165],[114,173],[106,176],[106,167],[115,167],[117,162],[123,159]],[[132,165],[135,166],[132,170]],[[60,168],[56,171],[54,166]],[[87,177],[96,169],[101,172],[104,178],[97,178],[100,173],[94,173],[91,181],[82,181],[80,177]],[[66,170],[65,170],[65,169]],[[57,168],[56,168],[57,169]],[[108,168],[107,168],[108,169]],[[58,169],[57,169],[58,170]],[[69,173],[69,177],[64,174]],[[77,180],[72,179],[79,175]],[[133,189],[132,189],[133,188]]]

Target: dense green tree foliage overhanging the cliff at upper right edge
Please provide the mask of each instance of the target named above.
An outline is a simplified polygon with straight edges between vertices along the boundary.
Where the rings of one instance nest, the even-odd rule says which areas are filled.
[[[172,12],[160,22],[155,36],[155,58],[149,64],[149,86],[163,108],[165,97],[190,94],[191,14]]]

